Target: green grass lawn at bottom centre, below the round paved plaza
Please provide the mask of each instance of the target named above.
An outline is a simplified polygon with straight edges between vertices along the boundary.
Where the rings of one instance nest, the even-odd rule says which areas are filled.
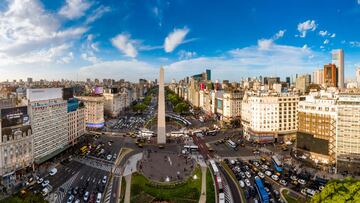
[[[155,185],[141,174],[134,173],[131,180],[131,202],[145,203],[152,200],[171,200],[171,202],[198,202],[201,193],[201,170],[194,172],[198,179],[190,177],[179,185]]]

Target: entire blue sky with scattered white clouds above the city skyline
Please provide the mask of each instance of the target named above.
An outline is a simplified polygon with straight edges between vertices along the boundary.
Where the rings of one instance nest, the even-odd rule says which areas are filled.
[[[0,80],[213,79],[360,67],[360,0],[3,0]]]

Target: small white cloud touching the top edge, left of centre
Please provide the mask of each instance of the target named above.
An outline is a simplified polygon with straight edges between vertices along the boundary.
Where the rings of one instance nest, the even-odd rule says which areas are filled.
[[[59,10],[59,14],[68,19],[77,19],[85,15],[91,7],[87,0],[66,0],[65,5]]]

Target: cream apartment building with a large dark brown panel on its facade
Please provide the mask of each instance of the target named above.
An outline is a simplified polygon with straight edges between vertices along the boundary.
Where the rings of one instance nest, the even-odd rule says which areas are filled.
[[[335,163],[336,97],[313,92],[299,102],[297,150],[316,163]]]

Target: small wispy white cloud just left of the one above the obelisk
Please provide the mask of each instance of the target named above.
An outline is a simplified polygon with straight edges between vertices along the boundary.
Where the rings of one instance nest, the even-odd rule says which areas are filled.
[[[111,39],[113,46],[118,48],[126,56],[135,58],[138,54],[135,45],[136,41],[130,39],[128,34],[119,34],[116,37]]]

